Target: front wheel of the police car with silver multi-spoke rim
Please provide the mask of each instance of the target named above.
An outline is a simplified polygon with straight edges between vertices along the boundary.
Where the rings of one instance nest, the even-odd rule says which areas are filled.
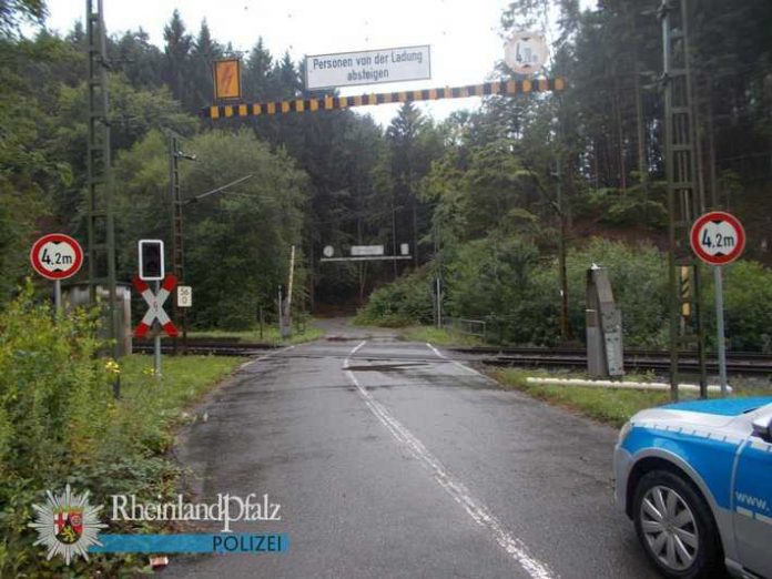
[[[713,515],[689,481],[653,470],[641,477],[633,500],[638,538],[666,577],[721,575],[723,555]]]

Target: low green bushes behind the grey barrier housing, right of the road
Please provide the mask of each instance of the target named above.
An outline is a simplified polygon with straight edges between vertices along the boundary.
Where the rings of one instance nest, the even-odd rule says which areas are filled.
[[[568,252],[569,326],[585,339],[587,270],[609,268],[622,308],[628,346],[667,344],[667,268],[651,245],[630,246],[601,238]],[[556,345],[560,342],[558,261],[542,260],[522,238],[496,236],[464,245],[448,266],[448,311],[487,322],[488,338],[501,343]]]

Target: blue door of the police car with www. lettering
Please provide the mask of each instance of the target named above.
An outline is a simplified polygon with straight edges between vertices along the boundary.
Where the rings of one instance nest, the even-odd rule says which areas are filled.
[[[737,465],[732,499],[739,562],[772,578],[772,444],[750,436]]]

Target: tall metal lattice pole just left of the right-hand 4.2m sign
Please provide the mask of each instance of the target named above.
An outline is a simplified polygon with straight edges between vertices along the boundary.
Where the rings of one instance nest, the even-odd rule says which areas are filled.
[[[668,181],[668,268],[670,295],[670,389],[678,399],[679,359],[695,349],[700,396],[708,396],[700,262],[689,247],[689,231],[704,212],[699,187],[695,128],[689,65],[688,0],[663,0],[664,162]]]

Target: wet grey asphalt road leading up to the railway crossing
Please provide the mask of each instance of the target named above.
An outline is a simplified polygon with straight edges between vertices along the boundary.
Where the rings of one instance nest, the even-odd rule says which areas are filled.
[[[612,502],[617,433],[502,392],[426,344],[337,332],[244,366],[179,456],[203,498],[262,496],[284,553],[169,577],[648,578]]]

